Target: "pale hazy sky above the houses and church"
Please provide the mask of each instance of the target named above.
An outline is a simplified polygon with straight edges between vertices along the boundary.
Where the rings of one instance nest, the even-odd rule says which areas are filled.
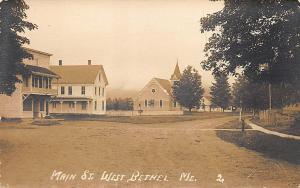
[[[181,71],[203,71],[203,48],[210,33],[200,18],[221,10],[208,0],[26,0],[30,48],[53,54],[51,64],[102,64],[110,88],[140,90],[153,77],[169,79],[178,59]]]

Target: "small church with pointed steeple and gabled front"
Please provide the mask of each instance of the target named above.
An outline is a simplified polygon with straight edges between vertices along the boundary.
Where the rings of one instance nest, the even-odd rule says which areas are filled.
[[[182,112],[181,106],[174,100],[172,86],[181,78],[178,62],[170,80],[152,78],[148,84],[138,93],[134,101],[134,110],[147,112]],[[173,113],[172,113],[173,112]]]

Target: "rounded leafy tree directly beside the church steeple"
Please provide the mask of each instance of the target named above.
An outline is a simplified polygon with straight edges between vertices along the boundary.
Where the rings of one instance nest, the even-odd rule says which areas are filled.
[[[179,81],[172,87],[175,100],[183,107],[191,111],[199,108],[204,89],[202,88],[201,76],[192,66],[187,66]]]

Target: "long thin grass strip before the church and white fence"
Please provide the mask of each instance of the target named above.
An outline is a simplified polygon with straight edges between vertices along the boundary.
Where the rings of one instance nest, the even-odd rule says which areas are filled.
[[[235,115],[234,113],[221,112],[199,112],[190,115],[174,116],[57,116],[66,120],[83,120],[83,121],[105,121],[132,124],[157,124],[157,123],[175,123],[183,121],[194,121],[203,119],[214,119]]]

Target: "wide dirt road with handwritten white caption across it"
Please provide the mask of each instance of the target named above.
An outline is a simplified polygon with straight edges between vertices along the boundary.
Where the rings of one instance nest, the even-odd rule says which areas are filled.
[[[66,121],[52,127],[1,124],[0,182],[30,188],[297,188],[299,166],[239,148],[209,130],[232,119],[156,125],[96,121]],[[59,176],[60,171],[65,176]],[[105,173],[113,173],[110,181]]]

